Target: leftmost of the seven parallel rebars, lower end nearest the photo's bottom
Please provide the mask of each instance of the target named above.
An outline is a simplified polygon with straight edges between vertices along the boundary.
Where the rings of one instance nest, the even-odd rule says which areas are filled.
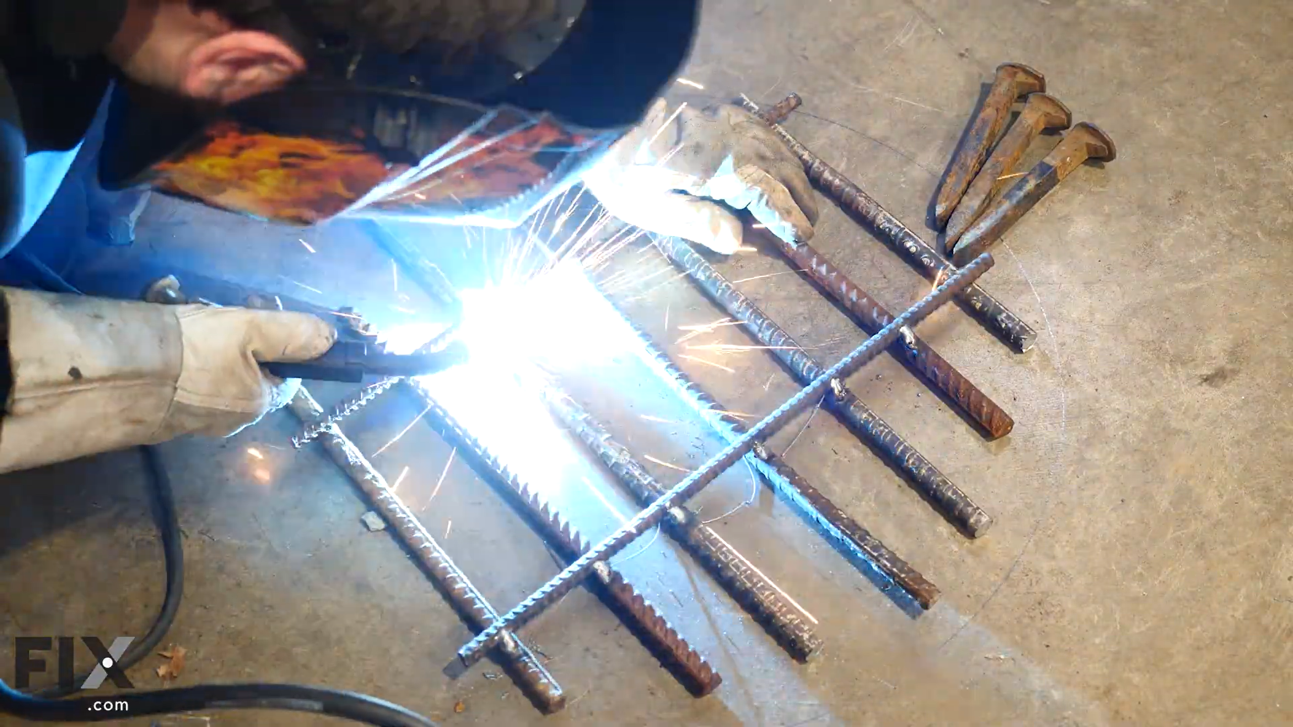
[[[301,387],[288,404],[301,422],[310,422],[323,414],[323,407]],[[493,626],[498,612],[485,600],[465,573],[445,552],[440,543],[423,528],[422,521],[390,490],[387,480],[372,468],[363,453],[335,424],[323,431],[322,445],[328,457],[337,464],[369,498],[392,532],[418,558],[427,573],[434,581],[458,614],[475,631]],[[565,693],[552,674],[539,662],[538,656],[517,639],[509,630],[497,640],[498,658],[517,687],[544,713],[559,711],[565,706]]]

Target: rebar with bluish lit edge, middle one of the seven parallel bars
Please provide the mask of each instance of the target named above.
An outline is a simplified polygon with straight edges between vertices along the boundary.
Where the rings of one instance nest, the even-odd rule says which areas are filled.
[[[665,351],[652,342],[645,331],[628,322],[627,318],[625,321],[637,335],[639,358],[668,384],[692,410],[707,420],[728,442],[737,441],[746,433],[745,424],[728,414],[728,409],[693,382]],[[828,393],[828,396],[830,395]],[[808,484],[799,472],[768,449],[767,442],[758,441],[753,454],[755,467],[764,480],[850,555],[870,563],[877,570],[884,573],[888,580],[910,594],[921,604],[921,608],[928,609],[939,600],[937,586],[926,580],[860,523],[850,517],[847,512],[837,507],[817,488]]]

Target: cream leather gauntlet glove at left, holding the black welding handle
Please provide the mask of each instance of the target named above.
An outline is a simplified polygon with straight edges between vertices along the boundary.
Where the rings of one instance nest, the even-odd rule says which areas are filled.
[[[13,376],[0,472],[187,433],[237,433],[300,387],[259,362],[317,358],[336,338],[304,313],[0,295]]]

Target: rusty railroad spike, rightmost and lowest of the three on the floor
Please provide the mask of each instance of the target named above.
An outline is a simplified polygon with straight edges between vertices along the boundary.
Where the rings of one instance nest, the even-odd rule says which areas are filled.
[[[992,203],[979,221],[957,243],[952,260],[968,263],[1001,239],[1020,217],[1046,197],[1055,185],[1064,181],[1073,169],[1087,159],[1112,162],[1117,147],[1095,124],[1082,122],[1073,127],[1045,159],[1037,163],[999,199]]]

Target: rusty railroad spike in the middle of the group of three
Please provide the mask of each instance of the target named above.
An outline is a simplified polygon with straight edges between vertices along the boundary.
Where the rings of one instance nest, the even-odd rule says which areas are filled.
[[[1024,110],[1019,118],[1001,137],[997,147],[992,150],[992,157],[979,169],[979,176],[970,184],[948,222],[948,234],[944,246],[950,254],[961,235],[970,225],[979,219],[992,197],[1006,186],[1006,179],[1015,171],[1015,164],[1028,151],[1033,140],[1046,129],[1067,129],[1073,123],[1073,114],[1068,106],[1060,103],[1058,98],[1047,93],[1032,93],[1024,102]]]

